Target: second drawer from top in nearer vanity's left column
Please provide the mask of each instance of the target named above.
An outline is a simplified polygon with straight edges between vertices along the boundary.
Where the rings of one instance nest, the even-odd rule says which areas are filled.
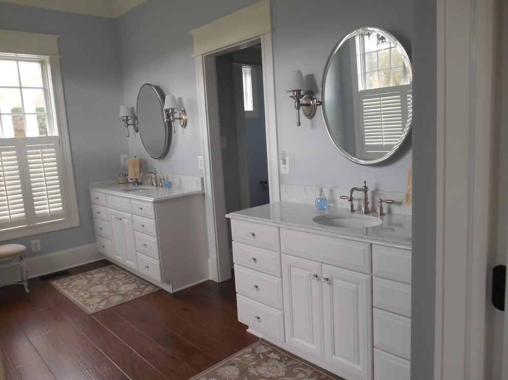
[[[233,242],[233,262],[268,275],[281,277],[281,254]]]

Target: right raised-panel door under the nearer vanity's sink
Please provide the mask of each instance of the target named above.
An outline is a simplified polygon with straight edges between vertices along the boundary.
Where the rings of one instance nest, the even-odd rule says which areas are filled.
[[[323,264],[325,361],[372,378],[370,276]]]

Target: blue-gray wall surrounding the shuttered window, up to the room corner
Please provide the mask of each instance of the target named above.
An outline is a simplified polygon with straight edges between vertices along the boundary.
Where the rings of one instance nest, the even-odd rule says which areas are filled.
[[[60,50],[67,123],[81,226],[15,239],[41,251],[29,257],[95,242],[88,183],[124,170],[125,128],[118,118],[123,101],[115,21],[104,17],[0,2],[0,29],[56,34]]]

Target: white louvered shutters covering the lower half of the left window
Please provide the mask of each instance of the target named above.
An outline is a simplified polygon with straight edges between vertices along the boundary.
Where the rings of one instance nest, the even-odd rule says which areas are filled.
[[[0,139],[0,145],[3,180],[0,228],[67,218],[58,137]]]

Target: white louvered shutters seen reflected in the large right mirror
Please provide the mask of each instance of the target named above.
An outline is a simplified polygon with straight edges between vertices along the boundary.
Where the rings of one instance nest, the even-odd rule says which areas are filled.
[[[411,117],[409,99],[408,85],[360,91],[363,152],[389,152],[397,144]]]

